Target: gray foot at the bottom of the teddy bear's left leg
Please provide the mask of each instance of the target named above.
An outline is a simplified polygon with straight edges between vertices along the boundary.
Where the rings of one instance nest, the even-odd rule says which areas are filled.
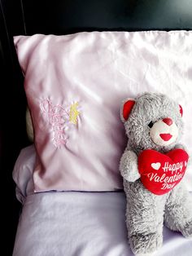
[[[152,233],[149,235],[132,236],[130,245],[136,256],[152,256],[162,246],[162,235]]]

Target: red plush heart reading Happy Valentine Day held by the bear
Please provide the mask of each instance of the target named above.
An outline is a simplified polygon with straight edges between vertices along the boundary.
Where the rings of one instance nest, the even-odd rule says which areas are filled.
[[[180,183],[189,156],[181,148],[162,154],[152,149],[142,151],[138,157],[138,170],[142,184],[155,195],[164,195]]]

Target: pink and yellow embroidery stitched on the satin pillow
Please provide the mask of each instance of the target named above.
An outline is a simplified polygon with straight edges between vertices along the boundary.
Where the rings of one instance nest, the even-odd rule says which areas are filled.
[[[78,103],[71,104],[70,110],[63,108],[61,105],[54,105],[49,99],[41,101],[41,110],[46,114],[53,131],[53,142],[56,147],[62,147],[66,144],[68,136],[65,129],[69,126],[69,122],[77,124],[79,112],[77,110]]]

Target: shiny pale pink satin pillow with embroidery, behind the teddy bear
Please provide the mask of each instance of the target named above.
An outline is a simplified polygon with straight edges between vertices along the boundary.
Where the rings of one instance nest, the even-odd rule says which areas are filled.
[[[125,98],[167,93],[183,105],[191,130],[191,32],[36,34],[14,42],[35,130],[35,192],[122,188]]]

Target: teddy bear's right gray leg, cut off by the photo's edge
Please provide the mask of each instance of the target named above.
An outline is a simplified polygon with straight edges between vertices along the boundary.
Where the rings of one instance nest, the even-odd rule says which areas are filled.
[[[183,183],[169,193],[165,205],[165,225],[183,236],[192,238],[192,195]]]

